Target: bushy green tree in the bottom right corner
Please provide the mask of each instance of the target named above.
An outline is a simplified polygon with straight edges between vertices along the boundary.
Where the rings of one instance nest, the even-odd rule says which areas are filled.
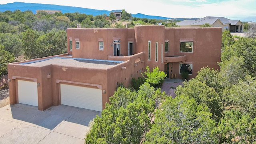
[[[254,144],[256,142],[256,118],[242,114],[238,110],[229,110],[216,127],[218,143]]]

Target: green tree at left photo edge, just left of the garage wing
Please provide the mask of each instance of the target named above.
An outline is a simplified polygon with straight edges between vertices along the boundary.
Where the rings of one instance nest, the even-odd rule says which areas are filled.
[[[13,54],[4,50],[4,46],[0,45],[0,76],[7,74],[7,64],[15,62]]]

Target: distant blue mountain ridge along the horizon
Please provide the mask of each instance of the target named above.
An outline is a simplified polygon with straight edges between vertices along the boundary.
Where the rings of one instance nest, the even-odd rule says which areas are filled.
[[[11,10],[12,12],[14,10],[20,10],[24,12],[25,10],[31,10],[34,14],[36,14],[36,10],[61,10],[62,13],[74,13],[74,12],[80,12],[87,15],[101,15],[101,14],[109,14],[109,10],[94,10],[90,8],[80,8],[80,7],[74,7],[74,6],[59,6],[54,4],[34,4],[34,3],[25,3],[25,2],[14,2],[14,3],[7,3],[7,4],[0,4],[0,11],[4,12],[6,10]],[[167,20],[167,19],[176,19],[176,20],[192,20],[192,19],[198,19],[198,18],[167,18],[162,16],[149,16],[145,14],[132,14],[133,17],[136,18],[148,18],[148,19],[157,19],[157,20]]]

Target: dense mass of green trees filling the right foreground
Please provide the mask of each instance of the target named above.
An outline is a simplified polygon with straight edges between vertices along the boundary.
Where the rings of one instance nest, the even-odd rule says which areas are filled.
[[[159,69],[119,87],[90,122],[86,144],[253,144],[256,39],[222,35],[220,70],[204,67],[166,96]]]

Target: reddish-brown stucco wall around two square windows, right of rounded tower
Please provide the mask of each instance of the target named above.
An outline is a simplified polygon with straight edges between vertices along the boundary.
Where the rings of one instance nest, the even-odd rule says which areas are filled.
[[[166,28],[165,39],[169,40],[169,52],[165,56],[186,55],[186,60],[178,63],[193,64],[190,78],[196,77],[202,67],[220,70],[217,62],[220,62],[221,56],[221,37],[222,28]],[[180,41],[192,41],[193,52],[180,52]],[[172,70],[177,78],[181,78],[179,64],[173,64]]]

